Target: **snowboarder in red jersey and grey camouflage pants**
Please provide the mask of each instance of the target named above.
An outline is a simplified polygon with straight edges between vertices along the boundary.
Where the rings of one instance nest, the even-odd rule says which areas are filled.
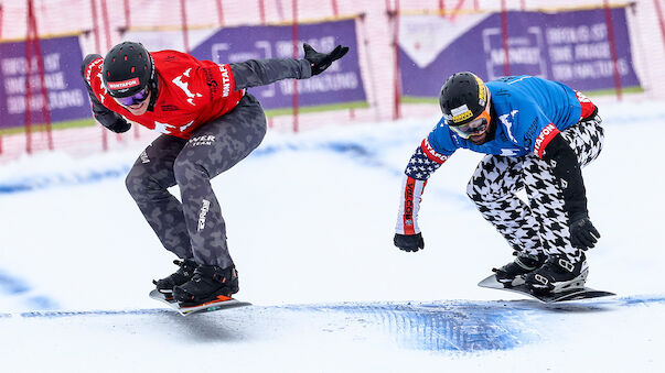
[[[100,124],[117,133],[131,124],[163,133],[141,153],[126,184],[163,246],[179,257],[175,273],[154,281],[167,298],[186,306],[238,292],[211,179],[249,155],[266,134],[264,110],[247,88],[318,75],[348,48],[318,53],[304,44],[304,59],[216,64],[125,42],[104,58],[84,58],[82,75]],[[182,202],[167,190],[174,185]]]

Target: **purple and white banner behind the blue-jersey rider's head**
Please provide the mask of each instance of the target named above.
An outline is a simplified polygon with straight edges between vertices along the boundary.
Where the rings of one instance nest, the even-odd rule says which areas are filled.
[[[611,12],[621,85],[640,87],[633,70],[625,9]],[[506,15],[510,75],[539,76],[587,92],[614,89],[603,9],[512,11]],[[501,14],[407,15],[400,22],[404,96],[438,97],[441,85],[457,72],[472,72],[484,80],[505,75]]]

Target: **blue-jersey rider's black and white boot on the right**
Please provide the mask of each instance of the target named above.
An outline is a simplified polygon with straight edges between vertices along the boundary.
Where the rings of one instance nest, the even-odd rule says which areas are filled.
[[[534,294],[556,294],[583,288],[589,265],[583,252],[576,262],[567,255],[551,255],[541,267],[525,276],[525,284]]]

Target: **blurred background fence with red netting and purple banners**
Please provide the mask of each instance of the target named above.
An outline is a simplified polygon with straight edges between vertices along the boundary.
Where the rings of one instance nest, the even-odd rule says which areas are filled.
[[[154,138],[138,125],[109,133],[89,112],[81,61],[124,40],[219,63],[351,45],[315,79],[253,90],[271,130],[302,131],[436,116],[457,70],[663,100],[664,19],[665,0],[0,0],[0,162]]]

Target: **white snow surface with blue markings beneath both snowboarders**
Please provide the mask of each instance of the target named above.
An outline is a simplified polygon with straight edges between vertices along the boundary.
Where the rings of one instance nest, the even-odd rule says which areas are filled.
[[[254,306],[186,318],[148,298],[174,266],[125,189],[143,145],[3,164],[0,370],[665,371],[665,107],[601,116],[588,285],[618,296],[557,306],[476,286],[512,260],[464,194],[480,154],[431,177],[426,249],[393,246],[403,169],[438,118],[268,133],[213,180]]]

